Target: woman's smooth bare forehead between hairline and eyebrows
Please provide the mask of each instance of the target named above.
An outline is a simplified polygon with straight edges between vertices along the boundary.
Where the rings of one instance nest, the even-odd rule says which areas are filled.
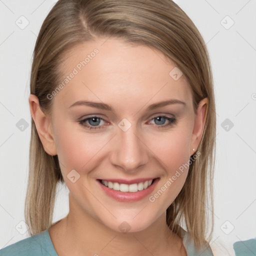
[[[98,38],[69,50],[63,63],[60,83],[64,86],[56,99],[66,106],[82,99],[105,103],[129,100],[134,104],[171,98],[192,100],[184,75],[176,79],[175,64],[145,45]]]

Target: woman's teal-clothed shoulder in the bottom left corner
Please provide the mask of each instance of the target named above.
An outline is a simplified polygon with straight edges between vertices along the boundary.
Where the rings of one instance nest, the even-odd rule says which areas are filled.
[[[52,255],[50,245],[47,230],[44,230],[0,249],[0,256]]]

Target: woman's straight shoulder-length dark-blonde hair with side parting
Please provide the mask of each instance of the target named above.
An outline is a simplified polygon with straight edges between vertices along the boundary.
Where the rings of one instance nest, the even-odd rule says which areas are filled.
[[[97,37],[118,38],[162,52],[188,81],[194,112],[201,99],[208,99],[197,148],[200,155],[189,165],[185,183],[166,211],[166,223],[173,232],[182,236],[181,230],[186,228],[195,246],[204,247],[213,230],[216,113],[210,60],[202,36],[171,0],[58,0],[39,31],[30,77],[30,93],[38,97],[46,114],[52,107],[47,94],[60,81],[67,51]],[[45,152],[32,118],[31,126],[25,220],[33,235],[52,225],[56,185],[64,181],[57,155]]]

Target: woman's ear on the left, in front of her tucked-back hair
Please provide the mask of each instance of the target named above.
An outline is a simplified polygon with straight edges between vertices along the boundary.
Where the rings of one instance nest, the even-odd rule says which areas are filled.
[[[42,112],[39,106],[39,100],[34,94],[29,95],[28,102],[31,116],[45,152],[49,155],[56,155],[57,152],[50,118]]]

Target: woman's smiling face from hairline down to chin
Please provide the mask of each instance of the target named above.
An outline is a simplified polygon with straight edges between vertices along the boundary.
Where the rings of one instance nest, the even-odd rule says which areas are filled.
[[[69,199],[116,231],[146,228],[165,213],[185,182],[205,108],[193,112],[184,75],[146,46],[117,39],[86,42],[69,52],[62,70],[62,86],[48,98]],[[170,100],[180,102],[159,104]],[[137,179],[143,183],[134,185],[141,182]],[[112,180],[117,190],[99,180]]]

